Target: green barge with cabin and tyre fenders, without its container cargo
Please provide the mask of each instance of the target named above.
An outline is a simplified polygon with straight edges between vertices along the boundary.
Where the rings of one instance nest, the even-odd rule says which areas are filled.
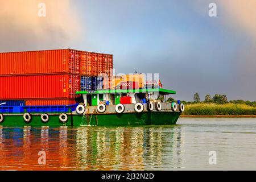
[[[2,126],[145,126],[175,125],[185,109],[167,89],[79,91],[83,102],[67,106],[0,106]]]

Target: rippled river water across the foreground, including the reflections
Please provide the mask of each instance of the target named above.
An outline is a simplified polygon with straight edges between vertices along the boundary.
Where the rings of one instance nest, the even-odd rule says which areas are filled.
[[[0,126],[0,152],[0,170],[255,170],[256,118],[180,118],[159,127]]]

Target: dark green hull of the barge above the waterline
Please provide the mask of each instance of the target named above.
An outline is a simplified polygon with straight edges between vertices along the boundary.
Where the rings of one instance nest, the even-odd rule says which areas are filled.
[[[5,115],[2,126],[144,126],[175,125],[179,112],[143,112],[123,114],[88,114],[68,115],[68,121],[61,123],[59,115],[49,115],[49,121],[43,123],[40,115],[32,115],[30,123],[23,120],[23,115]]]

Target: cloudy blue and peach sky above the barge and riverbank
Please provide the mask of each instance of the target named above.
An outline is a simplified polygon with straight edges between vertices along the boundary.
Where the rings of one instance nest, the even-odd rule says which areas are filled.
[[[255,7],[255,0],[0,0],[0,51],[111,53],[116,73],[159,73],[176,99],[198,92],[201,100],[219,93],[255,101]]]

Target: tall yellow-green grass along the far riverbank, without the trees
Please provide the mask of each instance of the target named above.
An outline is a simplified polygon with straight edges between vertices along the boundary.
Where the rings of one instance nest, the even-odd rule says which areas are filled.
[[[245,104],[192,104],[185,105],[183,115],[256,115],[256,107]]]

